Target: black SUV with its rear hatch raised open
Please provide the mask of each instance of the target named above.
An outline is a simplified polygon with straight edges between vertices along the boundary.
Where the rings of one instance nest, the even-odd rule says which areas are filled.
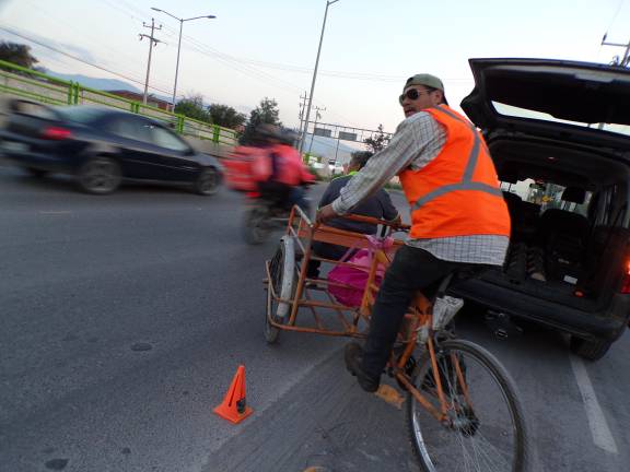
[[[471,59],[462,108],[494,160],[512,216],[502,269],[455,294],[500,318],[571,334],[603,357],[630,316],[630,70],[542,59]]]

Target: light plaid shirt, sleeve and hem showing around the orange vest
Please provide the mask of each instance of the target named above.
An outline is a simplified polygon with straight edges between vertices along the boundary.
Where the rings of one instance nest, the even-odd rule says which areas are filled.
[[[421,169],[444,148],[444,128],[425,113],[404,120],[389,145],[374,154],[368,164],[341,189],[332,202],[337,214],[346,214],[363,199],[374,194],[406,167]],[[407,245],[431,252],[439,259],[502,266],[510,239],[498,235],[453,236],[433,239],[408,239]]]

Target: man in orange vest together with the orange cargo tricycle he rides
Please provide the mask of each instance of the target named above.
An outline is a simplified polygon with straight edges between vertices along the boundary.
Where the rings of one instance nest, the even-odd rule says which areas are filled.
[[[266,262],[265,335],[270,343],[280,331],[364,340],[346,346],[346,366],[368,392],[378,390],[384,371],[407,392],[408,430],[425,471],[524,471],[526,423],[514,382],[488,351],[455,338],[451,320],[462,300],[447,296],[458,281],[503,264],[510,215],[494,165],[479,131],[448,107],[436,76],[409,78],[399,103],[406,119],[387,148],[319,209],[315,223],[293,208]],[[326,226],[357,219],[348,214],[396,175],[410,226],[363,220],[388,228],[371,238]],[[400,231],[406,240],[390,239]],[[312,249],[318,243],[348,253],[322,258]],[[349,278],[307,276],[313,259],[363,273],[358,306],[336,295],[359,288]]]

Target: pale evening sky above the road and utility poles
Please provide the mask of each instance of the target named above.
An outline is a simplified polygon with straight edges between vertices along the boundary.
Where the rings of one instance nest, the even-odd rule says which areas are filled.
[[[40,66],[61,73],[121,79],[142,90],[154,17],[163,43],[153,49],[150,91],[171,96],[178,17],[184,23],[177,96],[248,114],[275,98],[280,119],[298,127],[300,95],[310,92],[326,0],[0,0],[0,40],[28,44]],[[322,121],[393,132],[404,119],[398,95],[420,72],[440,76],[448,102],[472,90],[470,58],[549,58],[609,62],[630,42],[630,0],[339,0],[328,17],[313,106]],[[135,81],[135,82],[133,82]],[[312,111],[311,120],[315,113]]]

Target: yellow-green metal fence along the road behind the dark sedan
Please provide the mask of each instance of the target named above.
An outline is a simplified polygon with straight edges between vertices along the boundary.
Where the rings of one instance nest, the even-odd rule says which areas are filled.
[[[130,101],[107,92],[65,81],[12,62],[0,60],[0,94],[49,105],[101,105],[147,116],[176,132],[215,144],[235,145],[236,131]]]

